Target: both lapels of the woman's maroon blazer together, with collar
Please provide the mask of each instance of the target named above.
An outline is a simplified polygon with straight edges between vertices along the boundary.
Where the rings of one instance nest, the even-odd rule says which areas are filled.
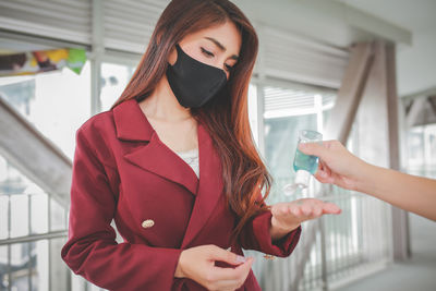
[[[198,123],[199,180],[192,168],[158,138],[153,126],[131,99],[113,109],[117,136],[128,142],[148,142],[124,155],[144,170],[179,183],[196,194],[181,247],[185,248],[201,232],[223,195],[222,166],[207,130]]]

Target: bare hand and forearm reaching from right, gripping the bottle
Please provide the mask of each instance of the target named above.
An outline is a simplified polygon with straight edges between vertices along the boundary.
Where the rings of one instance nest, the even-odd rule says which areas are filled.
[[[436,180],[373,166],[352,155],[338,141],[301,144],[299,149],[319,157],[315,173],[319,182],[363,192],[436,220]]]

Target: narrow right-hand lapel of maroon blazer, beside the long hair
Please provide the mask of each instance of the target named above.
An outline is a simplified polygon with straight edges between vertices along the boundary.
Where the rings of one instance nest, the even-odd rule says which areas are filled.
[[[206,129],[198,125],[199,138],[199,185],[194,208],[182,242],[185,248],[206,225],[222,194],[221,161]]]

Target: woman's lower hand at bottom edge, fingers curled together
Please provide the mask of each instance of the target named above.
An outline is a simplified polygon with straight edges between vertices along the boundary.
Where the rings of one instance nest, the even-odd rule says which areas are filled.
[[[217,267],[216,260],[237,267]],[[208,290],[233,291],[245,282],[253,260],[211,244],[195,246],[182,251],[174,277],[190,278]]]

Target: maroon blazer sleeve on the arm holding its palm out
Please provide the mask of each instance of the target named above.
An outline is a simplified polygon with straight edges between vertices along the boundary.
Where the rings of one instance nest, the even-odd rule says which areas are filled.
[[[255,250],[274,256],[287,257],[292,253],[300,240],[301,226],[280,240],[272,241],[269,233],[271,217],[270,210],[255,216],[242,229],[239,241],[245,250]]]

